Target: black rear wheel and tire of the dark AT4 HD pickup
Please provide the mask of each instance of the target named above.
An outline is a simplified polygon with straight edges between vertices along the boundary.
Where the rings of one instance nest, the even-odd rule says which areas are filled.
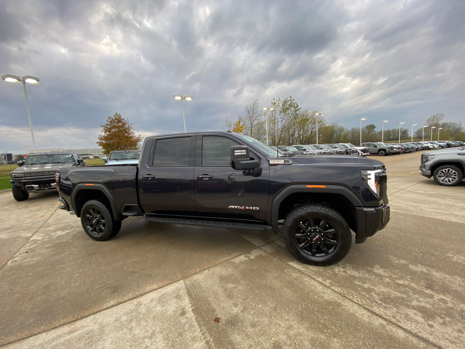
[[[115,221],[105,204],[98,200],[89,200],[84,204],[81,225],[86,234],[96,241],[108,240],[121,229],[121,221]]]

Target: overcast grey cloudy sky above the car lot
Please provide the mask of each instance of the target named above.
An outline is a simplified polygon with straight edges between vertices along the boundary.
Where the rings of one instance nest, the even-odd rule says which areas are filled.
[[[465,110],[464,0],[0,1],[0,73],[27,84],[37,148],[93,148],[115,112],[139,134],[219,130],[292,95],[346,127]],[[463,118],[465,121],[465,118]],[[32,148],[0,81],[0,151]]]

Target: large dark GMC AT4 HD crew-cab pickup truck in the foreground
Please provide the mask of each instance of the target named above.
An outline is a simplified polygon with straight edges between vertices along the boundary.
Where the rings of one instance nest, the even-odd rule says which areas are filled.
[[[266,230],[283,224],[286,247],[314,265],[339,262],[389,221],[382,162],[345,155],[289,158],[239,133],[147,137],[139,165],[66,165],[61,209],[94,240],[128,216],[147,221]],[[279,221],[284,220],[284,223]]]

